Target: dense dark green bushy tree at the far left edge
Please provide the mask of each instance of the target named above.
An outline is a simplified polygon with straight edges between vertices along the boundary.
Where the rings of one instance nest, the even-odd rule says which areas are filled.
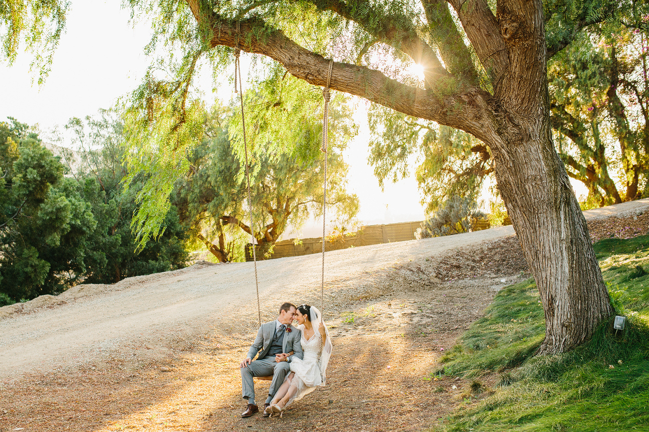
[[[14,300],[67,289],[83,277],[96,221],[64,167],[27,125],[0,123],[0,292]]]

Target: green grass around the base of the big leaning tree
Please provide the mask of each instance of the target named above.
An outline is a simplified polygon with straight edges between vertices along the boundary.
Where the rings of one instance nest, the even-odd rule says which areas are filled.
[[[443,357],[447,374],[498,373],[498,388],[434,430],[649,430],[649,235],[594,249],[625,330],[605,323],[572,352],[533,356],[545,333],[535,283],[506,287]]]

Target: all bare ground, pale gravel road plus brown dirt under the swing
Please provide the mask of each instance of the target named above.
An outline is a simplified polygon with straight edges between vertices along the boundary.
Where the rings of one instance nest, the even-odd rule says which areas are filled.
[[[628,204],[606,211],[635,217],[649,200]],[[328,386],[282,419],[239,416],[237,364],[257,325],[249,263],[1,308],[0,429],[421,430],[480,397],[469,383],[428,373],[498,289],[526,277],[517,241],[504,238],[511,234],[505,227],[328,253],[325,311],[336,350]],[[469,248],[452,252],[458,246]],[[319,259],[259,264],[263,319],[284,299],[319,304]]]

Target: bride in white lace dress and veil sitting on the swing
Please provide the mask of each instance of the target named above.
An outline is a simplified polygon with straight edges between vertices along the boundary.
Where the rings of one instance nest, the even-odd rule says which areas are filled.
[[[320,311],[315,306],[303,304],[297,307],[295,319],[299,324],[297,328],[302,330],[300,343],[304,357],[291,361],[291,372],[265,410],[265,414],[271,416],[279,413],[281,417],[288,405],[300,400],[315,390],[315,387],[324,385],[326,380],[324,372],[329,363],[332,344]]]

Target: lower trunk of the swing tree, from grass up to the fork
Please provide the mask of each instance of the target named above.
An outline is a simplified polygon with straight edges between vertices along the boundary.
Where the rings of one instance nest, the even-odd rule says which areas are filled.
[[[495,174],[545,309],[539,354],[567,352],[589,340],[615,311],[586,220],[552,143],[548,115],[509,113],[506,123],[509,132],[500,137],[505,144],[493,145]],[[541,134],[533,136],[534,130]]]

